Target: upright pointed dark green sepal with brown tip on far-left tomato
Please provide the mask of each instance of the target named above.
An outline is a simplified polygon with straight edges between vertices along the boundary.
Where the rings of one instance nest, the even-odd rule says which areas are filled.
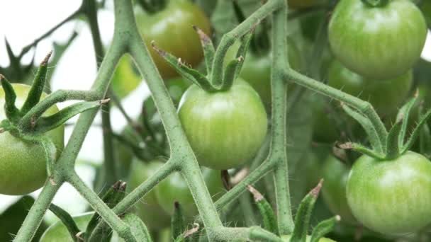
[[[28,92],[28,96],[26,98],[26,102],[23,104],[21,108],[21,115],[25,115],[28,110],[33,108],[36,104],[39,103],[40,97],[42,96],[43,89],[45,88],[45,79],[47,73],[47,64],[48,60],[51,57],[52,52],[48,53],[45,59],[43,59],[42,63],[38,68],[38,72],[33,79],[33,83],[31,85],[30,91]]]

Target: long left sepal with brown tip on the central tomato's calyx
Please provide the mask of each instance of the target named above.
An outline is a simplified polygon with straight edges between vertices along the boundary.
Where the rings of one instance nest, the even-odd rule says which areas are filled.
[[[215,91],[215,88],[211,86],[211,83],[208,81],[206,76],[203,76],[203,74],[199,73],[199,71],[187,67],[186,64],[181,62],[181,59],[174,57],[174,55],[170,54],[169,52],[157,47],[154,41],[151,42],[151,46],[161,57],[163,57],[163,59],[165,59],[171,65],[171,67],[173,67],[182,77],[184,77],[184,79],[195,83],[203,90],[210,92]]]

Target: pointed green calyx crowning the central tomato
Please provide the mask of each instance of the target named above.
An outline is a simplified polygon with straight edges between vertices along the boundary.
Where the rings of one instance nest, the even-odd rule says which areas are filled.
[[[193,26],[194,30],[201,40],[201,45],[203,47],[203,56],[206,63],[206,75],[202,74],[200,71],[189,67],[184,63],[181,58],[175,57],[173,54],[166,52],[159,48],[155,41],[151,42],[152,48],[164,58],[184,79],[195,83],[197,86],[202,88],[208,93],[218,92],[218,91],[228,91],[232,86],[233,82],[237,79],[240,74],[242,64],[244,63],[245,54],[250,45],[250,40],[252,39],[252,33],[254,28],[252,28],[247,34],[240,38],[241,45],[237,50],[236,58],[231,60],[225,69],[221,69],[220,73],[215,76],[220,76],[217,79],[210,79],[213,75],[213,62],[215,56],[215,48],[211,38],[206,35],[201,29]],[[233,41],[234,42],[234,41]],[[223,57],[224,59],[224,57]]]

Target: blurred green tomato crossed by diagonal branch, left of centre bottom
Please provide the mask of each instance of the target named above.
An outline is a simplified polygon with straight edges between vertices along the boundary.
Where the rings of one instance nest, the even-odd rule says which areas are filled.
[[[130,175],[128,178],[127,192],[137,188],[151,175],[155,174],[157,170],[163,165],[162,161],[154,160],[150,162],[140,161],[134,159],[130,168]],[[136,214],[144,221],[149,229],[159,230],[169,226],[170,216],[164,209],[162,209],[156,197],[156,190],[160,189],[157,185],[155,189],[148,192],[142,199],[135,204]]]

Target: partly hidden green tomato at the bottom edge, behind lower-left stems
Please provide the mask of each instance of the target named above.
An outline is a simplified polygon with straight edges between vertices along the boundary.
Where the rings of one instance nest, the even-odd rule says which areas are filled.
[[[80,231],[86,230],[86,225],[89,224],[93,214],[94,212],[86,212],[73,217]],[[39,242],[74,242],[74,240],[70,236],[69,231],[67,231],[65,224],[62,221],[57,221],[43,233]]]

